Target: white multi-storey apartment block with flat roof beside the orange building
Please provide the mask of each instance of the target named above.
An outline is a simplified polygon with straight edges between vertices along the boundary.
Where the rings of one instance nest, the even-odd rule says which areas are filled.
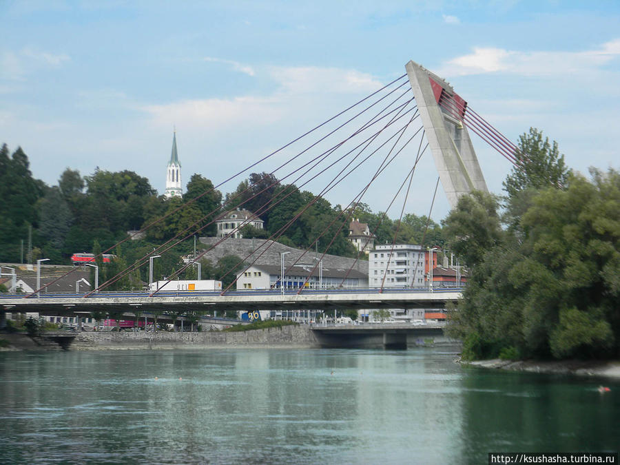
[[[370,287],[424,287],[426,251],[421,245],[378,245],[368,257]]]

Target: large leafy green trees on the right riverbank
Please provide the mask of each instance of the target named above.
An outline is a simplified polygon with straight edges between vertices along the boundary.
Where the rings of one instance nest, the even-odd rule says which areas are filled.
[[[504,198],[474,192],[444,221],[472,271],[448,331],[468,360],[618,358],[619,172],[570,172],[535,129],[517,157]]]

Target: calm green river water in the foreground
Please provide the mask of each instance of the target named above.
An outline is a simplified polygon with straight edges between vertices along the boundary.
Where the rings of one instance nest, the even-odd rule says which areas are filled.
[[[0,463],[486,464],[492,451],[618,450],[620,383],[465,369],[455,350],[3,352]]]

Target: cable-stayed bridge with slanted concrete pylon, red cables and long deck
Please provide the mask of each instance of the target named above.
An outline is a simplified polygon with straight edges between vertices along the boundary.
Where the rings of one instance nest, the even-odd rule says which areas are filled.
[[[382,191],[387,190],[393,193],[389,205],[382,209],[383,218],[386,218],[393,206],[400,204],[400,218],[398,219],[400,225],[417,165],[426,149],[430,149],[428,152],[431,152],[435,161],[439,175],[437,185],[441,180],[451,206],[454,207],[460,196],[468,194],[473,189],[486,191],[484,176],[477,162],[468,130],[477,134],[514,165],[518,165],[526,157],[482,116],[472,110],[471,106],[444,79],[410,61],[406,64],[405,74],[380,90],[251,163],[212,189],[169,211],[162,218],[145,225],[135,234],[143,234],[165,221],[169,216],[182,215],[183,209],[189,205],[199,202],[200,198],[209,192],[213,192],[214,189],[218,189],[239,176],[244,176],[251,170],[262,171],[273,176],[275,179],[273,184],[267,186],[249,184],[245,191],[237,192],[234,196],[227,198],[223,205],[205,214],[200,220],[187,226],[173,238],[118,272],[116,276],[107,279],[101,285],[98,282],[96,289],[92,291],[76,296],[42,296],[43,287],[41,287],[23,297],[1,298],[1,305],[5,311],[14,308],[37,308],[42,313],[43,309],[54,309],[54,311],[78,308],[126,310],[140,307],[143,311],[147,311],[174,306],[181,309],[203,309],[205,311],[247,309],[248,307],[251,309],[440,307],[448,300],[457,300],[460,296],[459,290],[433,292],[432,282],[420,285],[419,282],[413,280],[399,285],[399,289],[396,289],[393,287],[393,280],[386,279],[386,273],[382,273],[382,282],[378,289],[342,289],[336,286],[336,289],[332,290],[313,290],[309,285],[309,279],[314,273],[320,273],[320,269],[319,271],[317,269],[322,266],[321,260],[329,252],[338,235],[342,234],[343,228],[347,230],[356,209],[362,205],[367,196],[372,195],[373,188],[380,186]],[[390,169],[400,174],[400,183],[386,183],[385,175]],[[420,176],[420,174],[417,175]],[[422,176],[428,176],[428,173]],[[261,195],[275,185],[282,185],[285,188],[261,203]],[[173,247],[183,241],[192,240],[223,214],[234,211],[238,207],[244,207],[249,202],[254,205],[254,214],[258,217],[273,214],[274,211],[279,213],[278,208],[290,202],[291,198],[298,194],[299,189],[311,186],[318,194],[311,198],[304,198],[304,204],[296,205],[296,209],[289,211],[287,216],[280,215],[277,227],[269,229],[271,234],[269,238],[256,240],[256,249],[237,264],[243,265],[247,270],[256,263],[260,264],[261,257],[267,253],[269,247],[278,241],[278,238],[285,234],[309,208],[313,205],[320,205],[321,200],[338,185],[341,188],[342,185],[347,185],[347,191],[352,196],[350,202],[343,205],[339,214],[332,218],[329,224],[324,225],[322,229],[311,231],[313,234],[309,241],[311,245],[296,259],[296,262],[287,263],[284,258],[282,259],[282,276],[287,276],[289,269],[297,265],[300,260],[304,260],[304,254],[311,251],[313,246],[318,247],[318,244],[321,244],[322,255],[313,262],[313,269],[307,280],[297,289],[235,291],[234,285],[240,276],[240,273],[235,273],[236,278],[231,285],[219,293],[188,295],[176,293],[173,296],[161,289],[149,293],[106,291],[129,273],[135,272],[140,267],[152,265],[154,258],[169,253]],[[430,204],[432,211],[433,202],[431,201]],[[428,218],[430,218],[430,213]],[[206,250],[201,251],[193,260],[179,267],[166,279],[169,281],[176,279],[186,269],[193,267],[207,252],[236,236],[234,233],[240,231],[250,221],[251,218],[239,223],[233,234],[209,245]],[[397,231],[398,229],[394,234],[392,247],[396,242]],[[114,247],[126,240],[130,240],[130,237],[103,251],[102,254],[112,251]],[[360,252],[355,262],[361,258],[361,254]],[[392,260],[391,257],[395,254],[387,255],[389,258],[386,260],[386,269]],[[355,263],[351,265],[350,270],[353,267]],[[232,269],[236,269],[236,266],[231,267],[220,279],[232,273]],[[347,275],[344,276],[343,283],[346,278]]]

